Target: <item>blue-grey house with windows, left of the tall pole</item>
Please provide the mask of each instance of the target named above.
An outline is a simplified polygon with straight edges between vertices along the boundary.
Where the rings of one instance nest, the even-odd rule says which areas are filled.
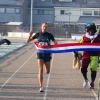
[[[23,22],[27,25],[28,0],[0,0],[0,23]]]

